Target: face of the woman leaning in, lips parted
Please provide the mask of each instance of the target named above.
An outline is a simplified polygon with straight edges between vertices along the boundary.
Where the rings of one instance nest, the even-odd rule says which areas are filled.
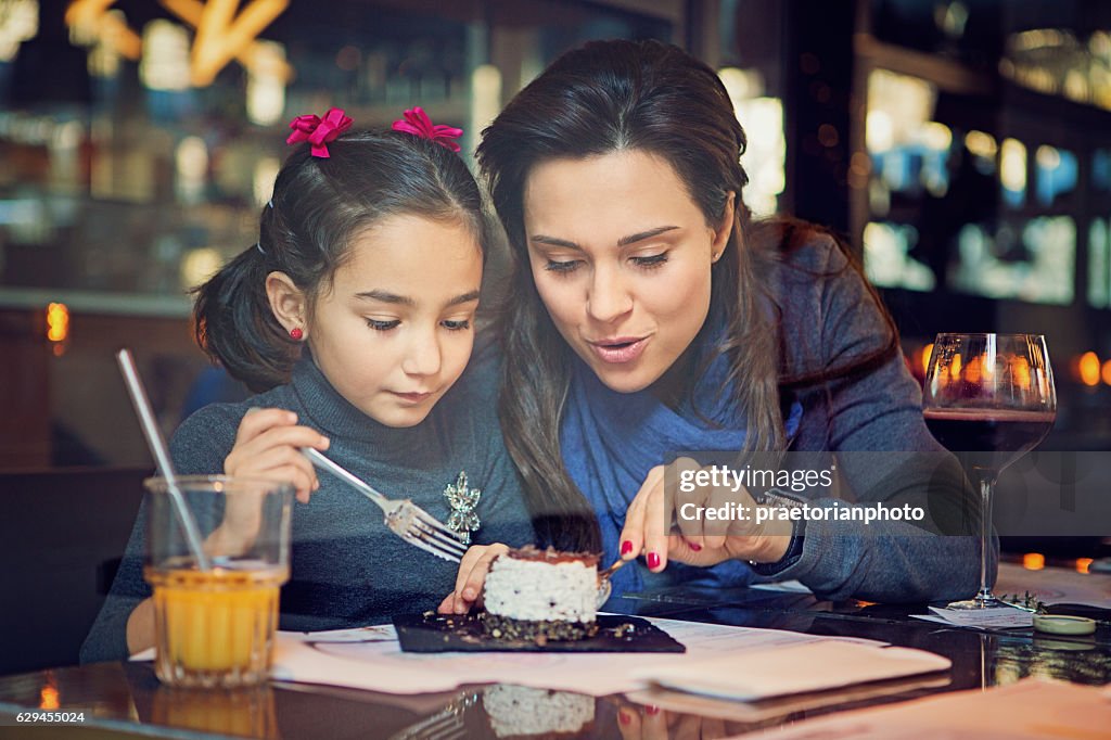
[[[648,388],[698,334],[731,200],[725,211],[722,224],[708,226],[672,167],[642,151],[533,168],[524,230],[537,290],[607,387]]]

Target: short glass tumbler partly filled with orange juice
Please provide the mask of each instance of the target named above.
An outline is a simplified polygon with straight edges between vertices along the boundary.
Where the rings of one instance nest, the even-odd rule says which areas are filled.
[[[168,686],[233,688],[267,680],[278,627],[278,592],[289,580],[288,483],[181,476],[211,567],[190,554],[164,478],[147,487],[153,589],[154,672]]]

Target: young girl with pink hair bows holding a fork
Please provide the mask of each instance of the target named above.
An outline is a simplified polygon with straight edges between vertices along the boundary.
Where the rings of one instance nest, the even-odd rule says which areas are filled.
[[[480,192],[452,150],[461,132],[433,127],[419,108],[406,118],[382,133],[341,133],[350,119],[336,109],[294,120],[290,140],[309,143],[279,172],[258,244],[196,291],[201,347],[264,392],[186,420],[173,462],[181,474],[296,486],[281,629],[421,611],[456,574],[390,533],[361,493],[318,478],[298,448],[324,451],[443,522],[446,488],[466,473],[464,498],[477,506],[457,527],[479,542],[532,538],[493,411],[492,356],[480,351],[464,372],[487,243]],[[153,644],[142,540],[140,512],[83,661]]]

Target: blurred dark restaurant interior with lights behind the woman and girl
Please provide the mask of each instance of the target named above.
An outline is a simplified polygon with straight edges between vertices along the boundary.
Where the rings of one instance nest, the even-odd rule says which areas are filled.
[[[204,403],[248,396],[198,349],[189,291],[258,240],[288,121],[336,106],[387,128],[420,104],[463,129],[473,166],[483,127],[591,39],[659,39],[718,70],[748,134],[745,203],[845,237],[919,381],[939,332],[1044,334],[1058,413],[1040,449],[1073,461],[1058,482],[1111,456],[1111,3],[243,0],[240,26],[198,49],[219,1],[0,0],[0,683],[76,666],[154,470],[114,352],[133,352],[167,437]],[[1003,560],[1079,577],[1111,556],[1111,531],[1067,534],[1003,537]],[[715,616],[730,609],[743,610]],[[975,660],[953,688],[1107,683],[1102,613],[1087,651],[954,631]],[[188,728],[143,680],[129,711]],[[50,708],[49,681],[20,686],[0,686],[0,704]],[[298,702],[324,704],[287,693],[277,718],[214,698],[206,711],[266,714],[246,734],[311,737]],[[376,701],[357,716],[390,716]],[[595,724],[614,724],[594,737],[624,727],[607,707]],[[442,713],[398,711],[414,726]]]

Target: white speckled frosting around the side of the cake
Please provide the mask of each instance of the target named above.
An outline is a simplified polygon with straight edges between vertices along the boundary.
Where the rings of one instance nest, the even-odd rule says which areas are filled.
[[[510,619],[593,622],[597,600],[598,567],[581,560],[501,556],[486,581],[487,611]]]

